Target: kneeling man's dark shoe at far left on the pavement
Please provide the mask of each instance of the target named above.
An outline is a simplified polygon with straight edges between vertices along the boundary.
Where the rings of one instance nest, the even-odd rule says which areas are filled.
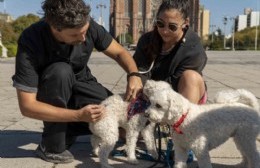
[[[62,153],[49,153],[42,144],[39,144],[35,153],[41,159],[52,163],[71,163],[74,160],[74,156],[70,151],[65,150]]]

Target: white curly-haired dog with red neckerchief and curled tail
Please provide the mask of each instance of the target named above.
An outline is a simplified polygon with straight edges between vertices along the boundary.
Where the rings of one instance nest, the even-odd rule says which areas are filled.
[[[215,98],[218,103],[197,105],[163,81],[149,80],[143,91],[151,103],[146,110],[149,119],[172,127],[175,168],[187,167],[190,149],[200,168],[212,168],[209,151],[230,137],[241,152],[243,168],[260,168],[256,148],[260,132],[259,105],[252,93],[246,90],[220,92]]]

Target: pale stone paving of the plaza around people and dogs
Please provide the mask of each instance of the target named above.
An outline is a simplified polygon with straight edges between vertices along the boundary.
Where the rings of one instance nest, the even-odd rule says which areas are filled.
[[[209,103],[214,94],[223,89],[244,88],[256,95],[260,103],[259,51],[208,51],[204,78],[208,86]],[[0,58],[0,168],[96,168],[99,162],[92,156],[89,136],[79,137],[71,152],[75,161],[70,164],[52,164],[35,157],[34,150],[41,140],[42,122],[20,114],[16,91],[12,87],[14,58]],[[89,66],[98,81],[114,93],[124,93],[126,74],[113,60],[102,53],[93,53]],[[258,142],[260,150],[260,143]],[[230,139],[211,151],[214,168],[235,168],[241,161]],[[152,162],[140,160],[129,165],[124,157],[111,158],[115,168],[145,168]],[[162,167],[162,165],[157,165]],[[196,161],[189,165],[196,167]]]

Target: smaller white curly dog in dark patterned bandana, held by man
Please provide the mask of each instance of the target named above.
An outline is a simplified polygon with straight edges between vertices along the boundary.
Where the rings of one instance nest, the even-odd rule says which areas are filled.
[[[120,95],[110,96],[102,104],[106,107],[106,115],[100,121],[89,125],[93,133],[91,137],[93,153],[99,156],[102,168],[112,168],[108,164],[108,157],[118,141],[119,127],[126,131],[126,153],[129,163],[138,164],[135,148],[140,132],[148,153],[154,158],[158,157],[154,143],[155,123],[150,122],[147,125],[149,121],[144,111],[129,117],[127,113],[129,102],[124,101]]]

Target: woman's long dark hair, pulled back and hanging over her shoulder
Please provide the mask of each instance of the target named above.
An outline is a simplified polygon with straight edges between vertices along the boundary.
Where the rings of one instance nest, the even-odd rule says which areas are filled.
[[[156,18],[161,12],[171,9],[177,9],[178,11],[180,11],[183,19],[185,20],[189,17],[190,3],[190,0],[163,0],[157,11]],[[163,43],[163,40],[158,32],[158,28],[155,24],[151,33],[151,43],[147,44],[147,46],[144,47],[144,51],[147,53],[147,59],[150,64],[155,60],[157,55],[160,54]]]

